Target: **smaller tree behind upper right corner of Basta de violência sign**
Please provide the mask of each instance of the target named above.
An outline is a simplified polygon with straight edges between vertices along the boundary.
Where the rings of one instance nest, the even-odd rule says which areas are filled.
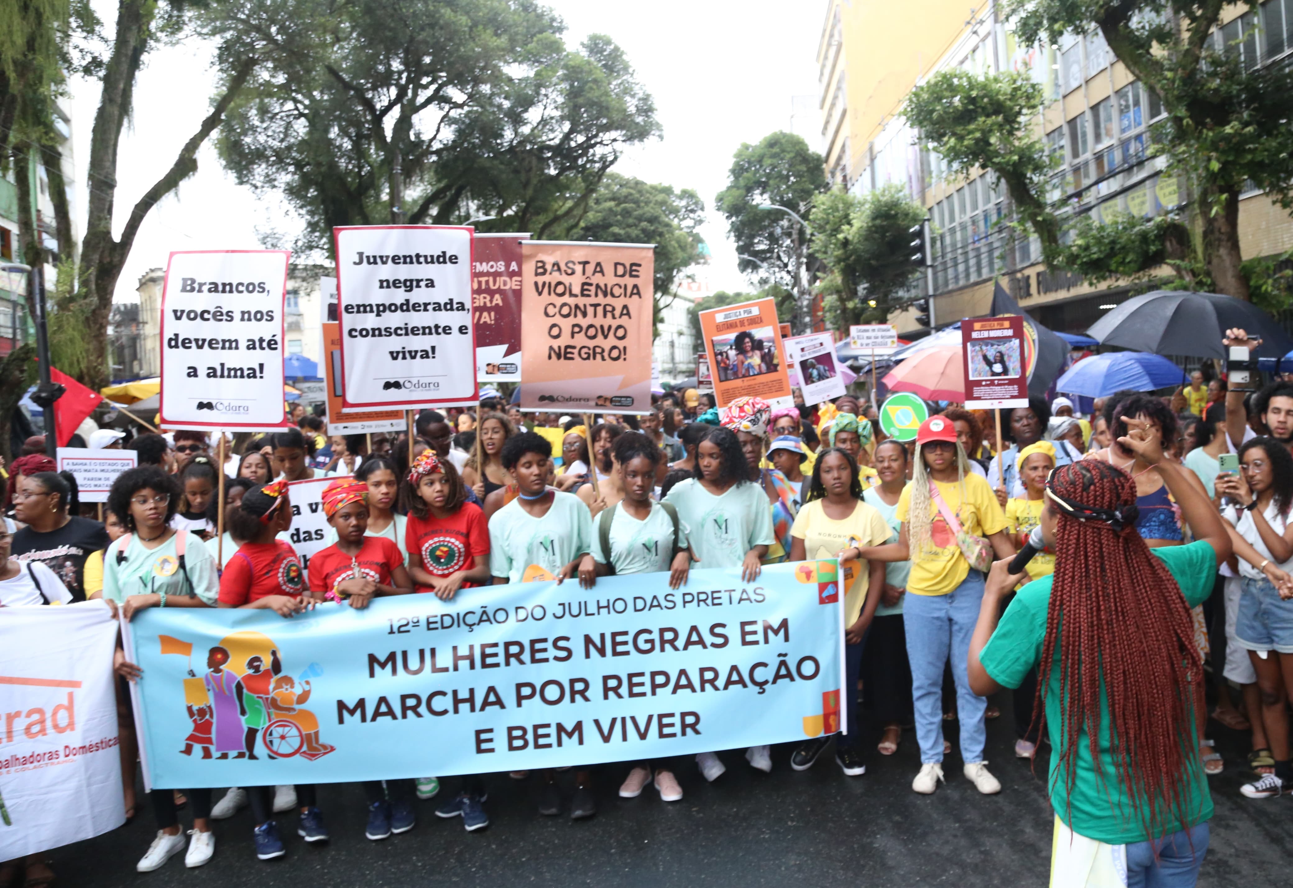
[[[700,235],[705,203],[690,189],[675,191],[640,178],[609,173],[592,196],[574,240],[656,244],[654,312],[674,297],[683,273],[705,261]]]

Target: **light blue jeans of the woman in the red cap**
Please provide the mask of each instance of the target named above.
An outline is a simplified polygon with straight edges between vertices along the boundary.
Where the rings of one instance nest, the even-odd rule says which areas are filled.
[[[988,701],[970,690],[970,637],[979,622],[983,574],[971,570],[948,595],[906,595],[903,623],[906,655],[912,662],[912,702],[915,707],[915,738],[921,763],[943,761],[943,667],[952,657],[957,685],[957,717],[961,721],[961,759],[983,761],[988,730],[984,712]]]

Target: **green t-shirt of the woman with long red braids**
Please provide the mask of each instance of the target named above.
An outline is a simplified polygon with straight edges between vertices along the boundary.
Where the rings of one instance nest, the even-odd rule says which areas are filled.
[[[1166,545],[1149,549],[1168,566],[1177,579],[1186,604],[1195,608],[1212,595],[1213,580],[1217,576],[1217,556],[1206,540],[1188,545]],[[1054,576],[1033,580],[1019,591],[1015,600],[1006,608],[997,631],[979,654],[979,662],[988,675],[999,685],[1018,688],[1028,671],[1041,661],[1046,640],[1046,620],[1050,610],[1051,582]],[[1093,595],[1098,595],[1093,589]],[[1060,639],[1063,639],[1063,629]],[[1060,770],[1059,750],[1063,748],[1063,716],[1060,714],[1060,649],[1055,646],[1055,662],[1051,666],[1050,681],[1046,688],[1046,730],[1051,742],[1050,795],[1055,814],[1068,823],[1078,835],[1111,845],[1125,845],[1133,841],[1147,841],[1151,838],[1169,835],[1179,830],[1202,823],[1213,816],[1212,795],[1208,792],[1208,778],[1199,760],[1199,742],[1195,735],[1195,719],[1188,719],[1187,730],[1191,765],[1184,774],[1184,795],[1182,810],[1184,818],[1169,822],[1159,835],[1144,834],[1139,804],[1133,805],[1127,790],[1118,781],[1117,768],[1109,742],[1109,699],[1103,682],[1100,686],[1100,768],[1103,778],[1095,773],[1095,760],[1086,730],[1076,743],[1076,768],[1072,796],[1068,795],[1064,774]],[[1072,810],[1072,822],[1069,822]]]

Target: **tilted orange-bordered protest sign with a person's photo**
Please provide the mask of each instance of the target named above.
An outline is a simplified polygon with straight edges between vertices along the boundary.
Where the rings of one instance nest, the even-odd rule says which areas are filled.
[[[773,300],[701,312],[701,339],[719,407],[745,396],[763,398],[773,408],[794,405]]]

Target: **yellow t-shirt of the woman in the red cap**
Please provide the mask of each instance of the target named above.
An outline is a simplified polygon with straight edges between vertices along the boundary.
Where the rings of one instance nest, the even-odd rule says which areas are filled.
[[[975,536],[992,536],[1006,529],[1006,516],[1001,513],[997,496],[988,482],[978,474],[966,474],[965,500],[957,482],[935,482],[943,502],[957,516],[961,527]],[[912,508],[912,485],[903,489],[897,500],[899,521],[906,521]],[[957,538],[946,521],[939,514],[939,507],[930,500],[930,543],[922,552],[912,552],[912,576],[906,591],[913,595],[948,595],[956,591],[970,575],[970,562],[961,555]]]

